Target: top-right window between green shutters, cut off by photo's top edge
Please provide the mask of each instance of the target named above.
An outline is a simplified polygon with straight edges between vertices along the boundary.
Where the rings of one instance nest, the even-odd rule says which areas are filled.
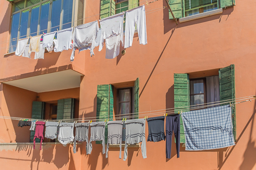
[[[185,0],[186,16],[218,9],[217,0]]]

